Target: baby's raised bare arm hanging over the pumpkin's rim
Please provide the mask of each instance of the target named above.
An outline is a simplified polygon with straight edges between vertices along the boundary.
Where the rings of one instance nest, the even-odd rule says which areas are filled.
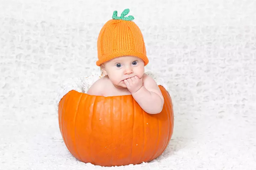
[[[137,80],[136,80],[137,79]],[[155,80],[148,75],[143,78],[144,83],[138,83],[137,81],[142,81],[138,78],[133,79],[135,83],[130,82],[128,85],[135,101],[140,105],[140,107],[149,114],[157,114],[162,111],[164,105],[164,97],[162,96],[161,90],[156,84]],[[139,85],[139,89],[133,91],[132,86]],[[128,84],[128,83],[127,83]],[[136,88],[134,88],[136,89]]]

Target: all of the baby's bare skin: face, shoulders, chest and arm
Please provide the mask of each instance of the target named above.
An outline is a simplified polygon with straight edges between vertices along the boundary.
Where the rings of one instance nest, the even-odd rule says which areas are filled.
[[[98,79],[87,94],[105,97],[132,95],[145,112],[158,114],[162,111],[164,97],[155,80],[144,73],[141,59],[118,57],[104,64],[102,70],[105,76]]]

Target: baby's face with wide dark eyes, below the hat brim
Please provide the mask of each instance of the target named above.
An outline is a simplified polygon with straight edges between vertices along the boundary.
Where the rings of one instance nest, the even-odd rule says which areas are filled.
[[[144,74],[144,61],[134,56],[122,56],[113,58],[104,63],[102,71],[108,75],[115,86],[126,88],[124,79],[134,77],[135,75],[140,79]]]

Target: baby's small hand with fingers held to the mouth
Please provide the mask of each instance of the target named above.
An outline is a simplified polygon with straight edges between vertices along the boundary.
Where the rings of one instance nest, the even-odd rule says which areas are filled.
[[[135,93],[136,91],[138,91],[142,87],[142,85],[143,85],[142,80],[139,79],[137,76],[125,79],[124,80],[124,84],[126,84],[127,89],[132,94]]]

